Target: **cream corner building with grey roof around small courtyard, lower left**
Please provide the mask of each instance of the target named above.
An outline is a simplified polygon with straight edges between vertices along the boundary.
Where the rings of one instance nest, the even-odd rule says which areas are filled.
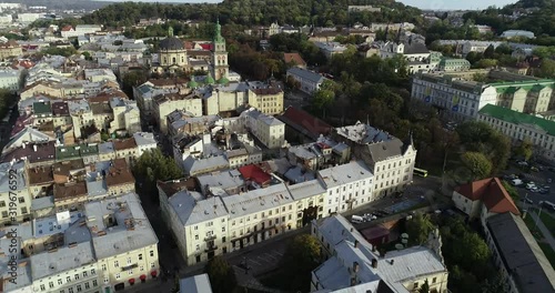
[[[160,274],[158,238],[137,194],[91,202],[84,210],[103,290],[140,286]]]

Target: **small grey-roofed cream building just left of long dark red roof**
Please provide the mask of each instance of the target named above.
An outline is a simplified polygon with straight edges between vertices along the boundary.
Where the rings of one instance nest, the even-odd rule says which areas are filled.
[[[251,108],[241,113],[245,128],[269,149],[282,148],[285,143],[285,123]]]

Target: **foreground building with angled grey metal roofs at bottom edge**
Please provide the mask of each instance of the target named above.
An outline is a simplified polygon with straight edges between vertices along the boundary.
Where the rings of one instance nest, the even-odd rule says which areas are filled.
[[[416,293],[426,281],[430,292],[448,292],[438,231],[424,246],[385,255],[380,255],[342,215],[313,221],[311,234],[319,240],[324,259],[312,271],[312,292],[380,292],[380,286],[387,292]]]

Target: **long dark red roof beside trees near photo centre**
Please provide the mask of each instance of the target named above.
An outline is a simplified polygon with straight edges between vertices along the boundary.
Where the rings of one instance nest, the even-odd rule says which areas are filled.
[[[324,121],[294,107],[289,107],[280,120],[285,122],[285,124],[290,124],[290,127],[293,127],[297,131],[303,131],[305,134],[314,138],[320,137],[320,134],[327,135],[332,129],[332,127]]]

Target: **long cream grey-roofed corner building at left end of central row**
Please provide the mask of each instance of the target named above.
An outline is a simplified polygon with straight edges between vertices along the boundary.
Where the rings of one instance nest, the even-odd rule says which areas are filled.
[[[184,181],[159,183],[159,194],[162,216],[189,265],[272,239],[321,218],[325,196],[317,181],[289,188],[280,183],[223,198],[204,198],[186,191],[184,184]],[[169,193],[175,190],[181,191]]]

